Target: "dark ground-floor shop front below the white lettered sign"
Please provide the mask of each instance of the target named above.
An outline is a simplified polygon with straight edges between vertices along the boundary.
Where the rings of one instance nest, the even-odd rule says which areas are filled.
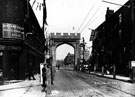
[[[29,65],[32,63],[34,73],[39,73],[43,55],[24,46],[4,46],[0,50],[0,81],[24,80],[29,74]]]

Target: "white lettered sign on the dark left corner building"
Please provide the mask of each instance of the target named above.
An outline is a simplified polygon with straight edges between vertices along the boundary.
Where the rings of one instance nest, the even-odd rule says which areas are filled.
[[[24,28],[11,23],[3,23],[2,28],[3,38],[24,39],[24,32],[22,32]]]

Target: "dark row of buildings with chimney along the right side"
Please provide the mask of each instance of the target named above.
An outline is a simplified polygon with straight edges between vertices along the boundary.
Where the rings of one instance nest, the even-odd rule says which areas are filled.
[[[135,59],[132,56],[135,37],[132,31],[135,21],[132,16],[130,1],[115,13],[107,8],[106,20],[93,31],[91,63],[96,64],[100,71],[103,66],[108,69],[116,66],[116,74],[129,76],[129,63]]]

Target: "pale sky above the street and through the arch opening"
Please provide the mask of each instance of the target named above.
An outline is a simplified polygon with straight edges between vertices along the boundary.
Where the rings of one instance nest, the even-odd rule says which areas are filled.
[[[31,5],[35,0],[31,0]],[[123,5],[128,0],[104,0]],[[43,0],[36,0],[33,10],[42,26],[42,9],[37,7]],[[103,0],[46,0],[47,8],[47,32],[46,33],[81,33],[86,46],[90,47],[89,41],[91,29],[96,29],[103,21],[107,7],[116,11],[121,6],[103,2]],[[68,49],[67,49],[68,48]],[[89,48],[91,50],[91,48]],[[56,50],[56,59],[63,59],[68,52],[74,53],[71,46],[62,45]]]

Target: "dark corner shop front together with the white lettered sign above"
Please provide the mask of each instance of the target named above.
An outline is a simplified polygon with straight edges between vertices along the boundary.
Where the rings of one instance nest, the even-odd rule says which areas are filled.
[[[16,24],[3,23],[0,40],[0,80],[25,79],[29,64],[38,72],[44,55],[25,41],[23,28]]]

